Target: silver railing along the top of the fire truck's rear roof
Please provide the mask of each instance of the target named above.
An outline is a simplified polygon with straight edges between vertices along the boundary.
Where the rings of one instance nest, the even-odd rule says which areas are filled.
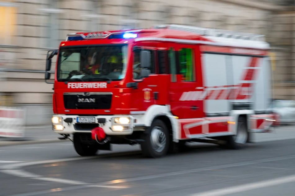
[[[153,28],[174,29],[174,30],[196,33],[196,34],[203,35],[203,36],[214,36],[214,37],[225,37],[225,38],[242,39],[242,40],[265,41],[264,35],[238,32],[238,31],[229,31],[229,30],[215,29],[215,28],[201,28],[201,27],[193,27],[193,26],[178,25],[178,24],[159,25],[159,26],[155,26]]]

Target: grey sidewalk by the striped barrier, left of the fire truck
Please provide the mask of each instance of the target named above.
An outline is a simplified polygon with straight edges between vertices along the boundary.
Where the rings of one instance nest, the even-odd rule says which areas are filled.
[[[51,128],[51,125],[26,126],[25,137],[0,137],[0,146],[67,141],[60,140],[58,139],[58,137],[61,137],[61,135],[54,133],[54,131]]]

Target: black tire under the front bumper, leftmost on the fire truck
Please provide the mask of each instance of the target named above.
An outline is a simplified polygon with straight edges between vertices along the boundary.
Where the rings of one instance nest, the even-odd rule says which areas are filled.
[[[74,134],[74,148],[80,156],[94,156],[98,151],[97,145],[82,143],[79,134]]]

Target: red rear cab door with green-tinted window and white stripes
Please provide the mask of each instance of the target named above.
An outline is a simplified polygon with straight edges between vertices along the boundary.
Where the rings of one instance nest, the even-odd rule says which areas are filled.
[[[177,44],[168,48],[171,112],[179,119],[201,118],[203,82],[197,45]]]

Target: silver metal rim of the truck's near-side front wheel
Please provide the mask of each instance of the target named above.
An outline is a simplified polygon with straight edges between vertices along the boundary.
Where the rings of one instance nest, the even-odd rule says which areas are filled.
[[[151,131],[150,137],[151,146],[154,151],[161,152],[166,146],[166,135],[163,132],[163,128],[155,126]]]

